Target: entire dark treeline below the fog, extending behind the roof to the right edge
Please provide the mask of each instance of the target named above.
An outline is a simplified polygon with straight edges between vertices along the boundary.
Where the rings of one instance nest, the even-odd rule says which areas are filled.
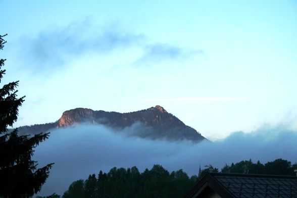
[[[112,168],[108,173],[102,171],[96,176],[89,175],[86,180],[72,182],[62,198],[87,197],[183,197],[200,178],[208,172],[294,175],[294,169],[287,160],[277,159],[262,164],[252,160],[225,165],[221,171],[212,165],[189,177],[182,169],[169,173],[161,165],[140,173],[137,167]],[[38,196],[39,198],[42,198]],[[53,194],[48,197],[60,197]]]

